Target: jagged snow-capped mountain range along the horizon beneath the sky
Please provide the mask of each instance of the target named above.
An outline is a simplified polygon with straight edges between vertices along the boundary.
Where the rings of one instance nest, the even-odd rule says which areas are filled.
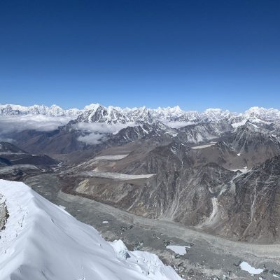
[[[152,123],[153,120],[176,123],[202,123],[228,120],[229,123],[238,123],[241,120],[255,119],[267,122],[279,122],[280,111],[277,109],[265,109],[251,107],[244,113],[235,113],[221,109],[207,109],[204,112],[183,111],[179,106],[148,109],[145,106],[135,108],[120,108],[117,106],[102,106],[90,104],[84,109],[62,109],[57,105],[50,107],[45,105],[21,106],[6,104],[0,105],[0,116],[43,115],[43,116],[68,116],[77,118],[76,123],[132,123],[137,120]]]

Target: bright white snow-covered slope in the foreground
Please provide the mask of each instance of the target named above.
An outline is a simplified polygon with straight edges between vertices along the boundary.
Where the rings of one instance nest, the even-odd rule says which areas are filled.
[[[9,214],[0,232],[1,280],[181,279],[156,255],[105,241],[24,183],[0,180],[0,196]]]

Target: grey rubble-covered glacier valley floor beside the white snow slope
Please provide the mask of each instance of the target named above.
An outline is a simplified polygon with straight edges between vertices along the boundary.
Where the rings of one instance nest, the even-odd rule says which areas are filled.
[[[56,174],[29,176],[25,183],[79,221],[93,225],[105,239],[122,239],[130,250],[139,248],[156,253],[183,279],[275,280],[280,277],[279,245],[230,241],[179,223],[143,218],[85,197],[69,195],[61,191]],[[186,253],[182,252],[182,246],[186,246]],[[251,269],[245,265],[243,269],[248,272],[242,270],[241,262],[247,262]],[[255,273],[253,267],[263,272],[252,274]]]

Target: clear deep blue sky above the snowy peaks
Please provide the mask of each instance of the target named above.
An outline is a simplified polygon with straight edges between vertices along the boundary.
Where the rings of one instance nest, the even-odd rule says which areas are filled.
[[[280,109],[280,1],[1,1],[0,103],[96,102]]]

